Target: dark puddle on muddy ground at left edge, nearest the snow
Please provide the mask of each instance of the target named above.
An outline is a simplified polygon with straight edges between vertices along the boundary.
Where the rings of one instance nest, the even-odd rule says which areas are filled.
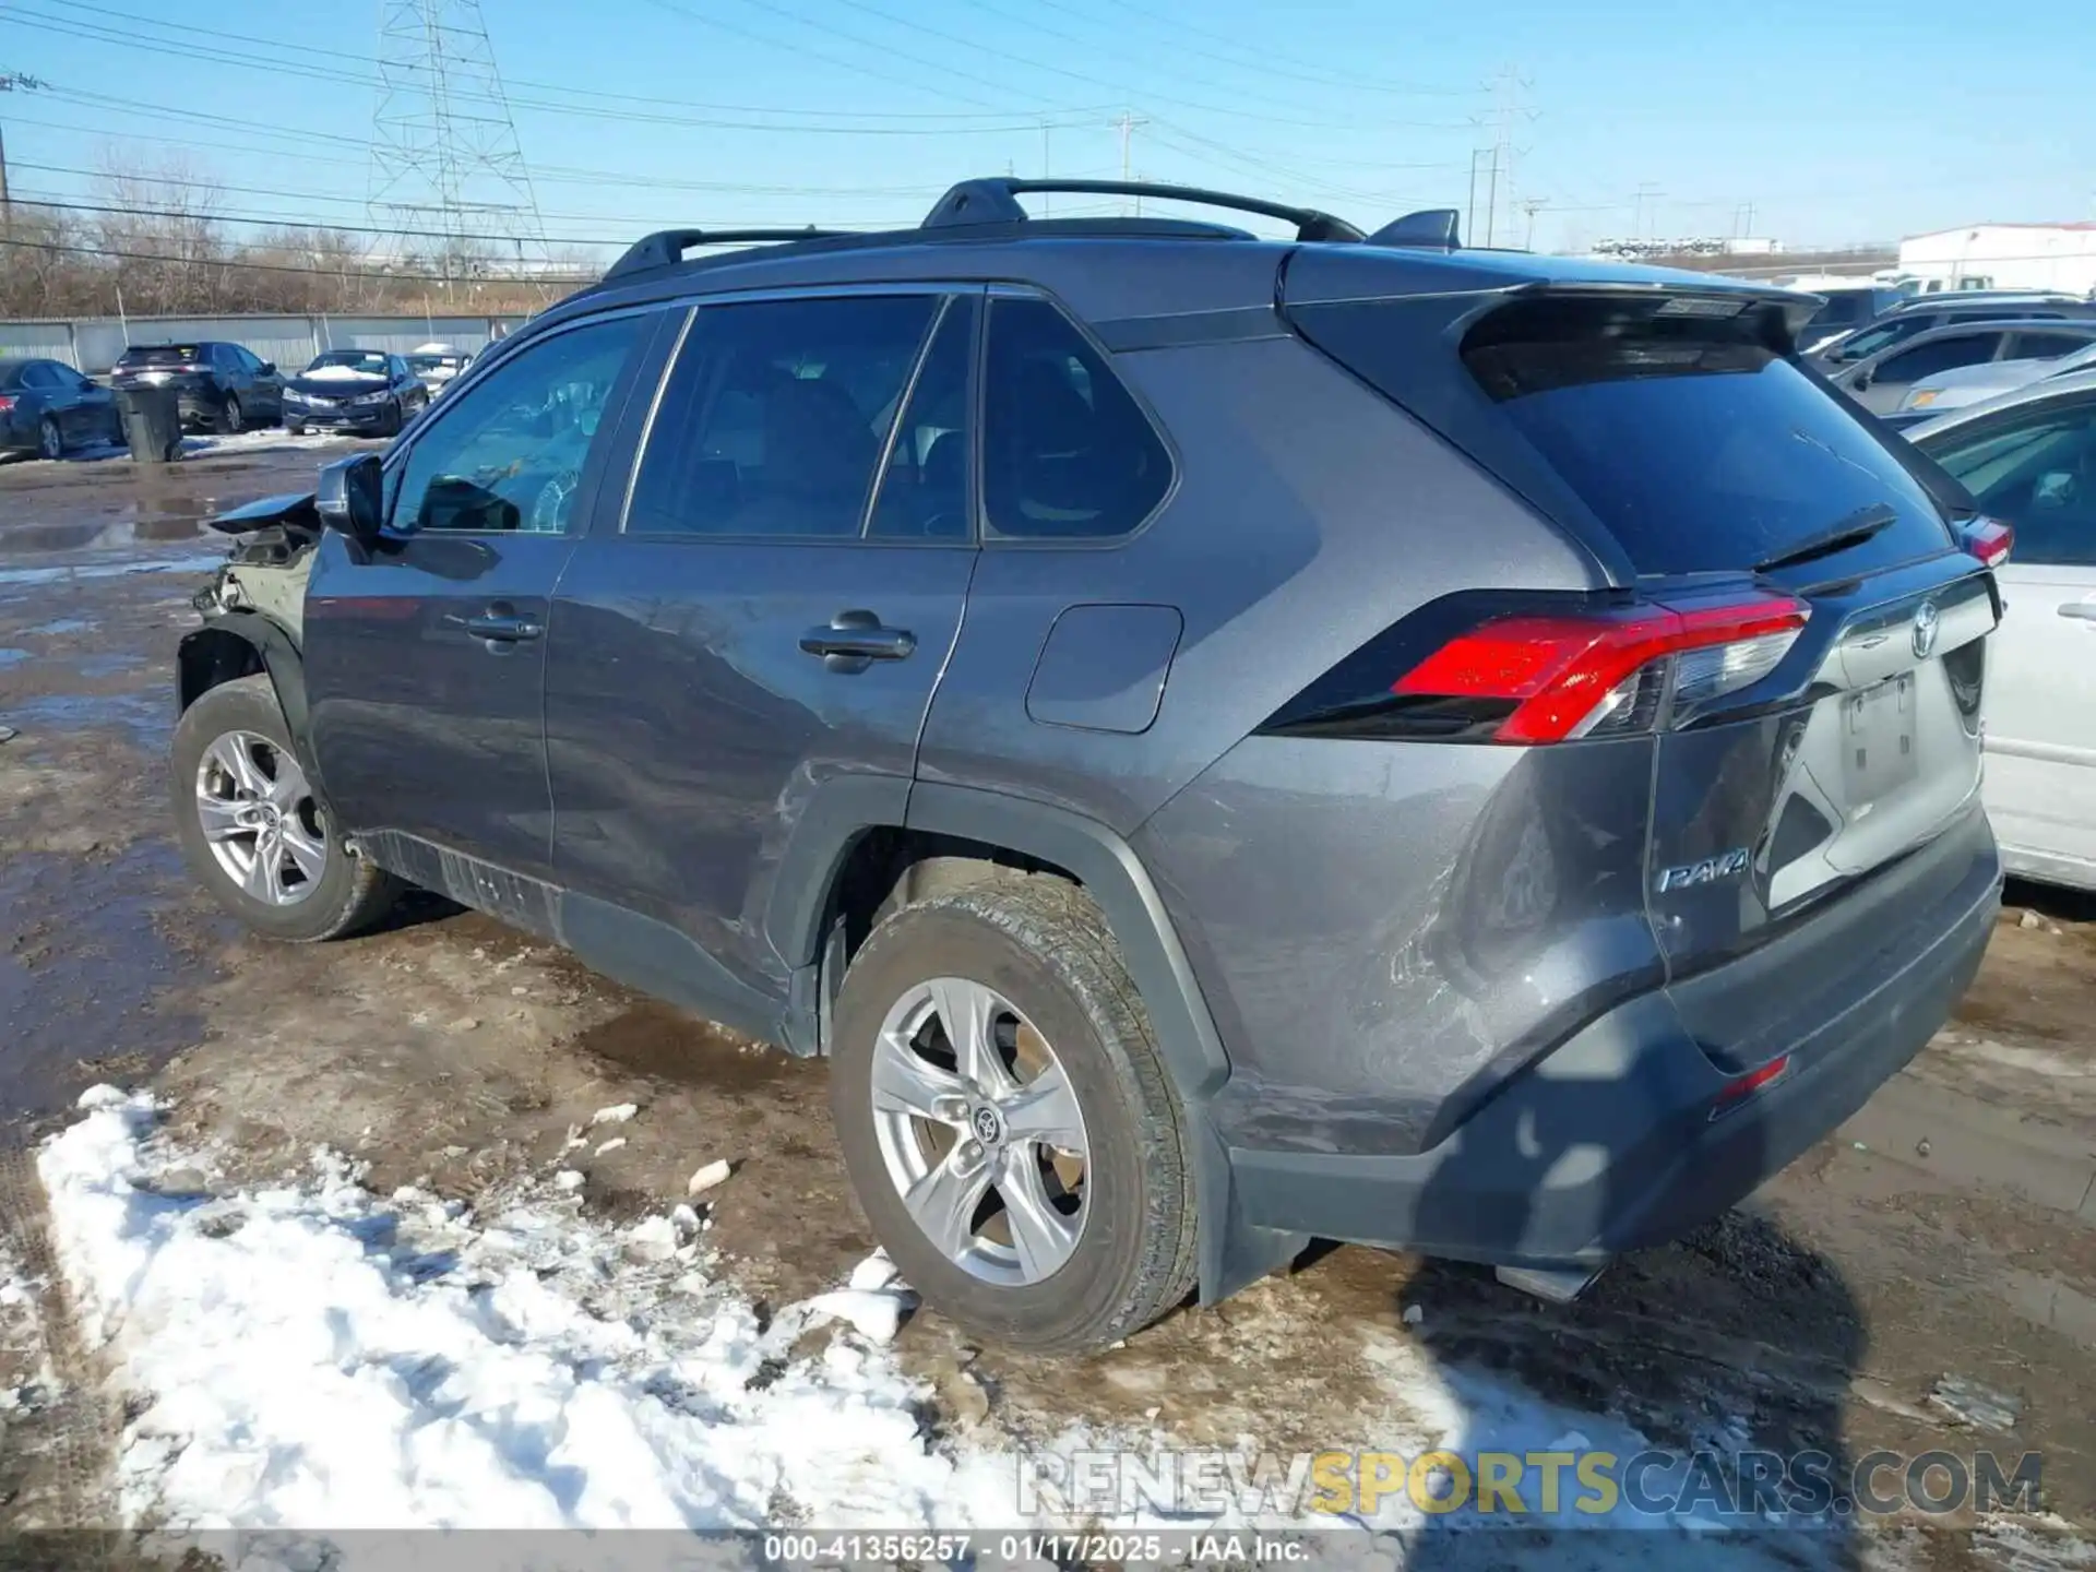
[[[0,952],[0,1117],[52,1113],[101,1079],[138,1079],[201,1038],[199,1014],[155,1006],[191,970],[153,922],[180,878],[161,840],[113,861],[38,853],[0,864],[13,929]]]

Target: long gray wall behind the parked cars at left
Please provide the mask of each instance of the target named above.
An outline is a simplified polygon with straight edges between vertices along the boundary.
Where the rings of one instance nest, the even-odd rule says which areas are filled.
[[[300,371],[321,350],[405,354],[432,340],[482,350],[522,316],[75,316],[0,321],[0,358],[65,361],[90,375],[109,371],[128,344],[228,340],[285,371]]]

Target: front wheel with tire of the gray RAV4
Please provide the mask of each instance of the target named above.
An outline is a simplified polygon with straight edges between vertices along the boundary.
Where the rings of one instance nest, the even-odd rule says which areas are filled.
[[[335,939],[377,922],[400,891],[350,855],[266,675],[212,687],[182,713],[170,786],[191,874],[256,933]]]

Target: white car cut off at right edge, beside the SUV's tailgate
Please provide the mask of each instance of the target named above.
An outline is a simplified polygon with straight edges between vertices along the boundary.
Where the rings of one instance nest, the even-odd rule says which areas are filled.
[[[2012,874],[2096,889],[2096,369],[1905,436],[2014,526],[1987,648],[1987,817]]]

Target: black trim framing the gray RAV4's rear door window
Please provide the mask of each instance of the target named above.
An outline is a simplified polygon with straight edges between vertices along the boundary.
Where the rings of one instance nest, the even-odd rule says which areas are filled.
[[[650,543],[677,543],[677,545],[786,545],[786,547],[872,547],[882,551],[977,551],[983,545],[983,484],[981,484],[981,463],[983,463],[983,333],[989,323],[987,308],[987,287],[981,279],[960,279],[960,281],[880,281],[880,283],[811,283],[794,285],[782,289],[723,289],[719,293],[706,296],[679,296],[669,302],[652,302],[650,310],[683,312],[683,323],[677,325],[677,335],[662,356],[662,369],[656,377],[654,394],[648,400],[648,415],[641,421],[639,432],[633,440],[633,459],[627,463],[625,497],[618,501],[618,526],[610,530],[614,541],[650,541]],[[889,453],[895,442],[895,423],[891,421],[887,436],[880,444],[880,457],[874,461],[872,478],[866,484],[866,497],[859,501],[859,528],[853,534],[711,534],[694,530],[635,530],[629,528],[633,514],[633,493],[639,486],[641,463],[648,459],[648,442],[654,438],[656,415],[662,409],[662,398],[669,390],[671,373],[677,369],[677,361],[683,354],[685,340],[692,335],[692,325],[706,306],[765,306],[773,302],[788,300],[849,300],[868,296],[926,296],[935,300],[933,319],[924,329],[922,342],[918,342],[916,358],[910,363],[910,375],[903,379],[901,398],[895,405],[895,421],[910,407],[910,394],[916,392],[918,377],[924,371],[924,363],[931,358],[933,340],[939,335],[939,327],[945,323],[945,314],[954,308],[954,302],[962,296],[977,296],[981,304],[975,312],[975,344],[968,361],[968,534],[954,541],[924,541],[912,537],[880,537],[868,534],[866,530],[874,518],[874,505],[880,499],[880,484],[887,480]]]

